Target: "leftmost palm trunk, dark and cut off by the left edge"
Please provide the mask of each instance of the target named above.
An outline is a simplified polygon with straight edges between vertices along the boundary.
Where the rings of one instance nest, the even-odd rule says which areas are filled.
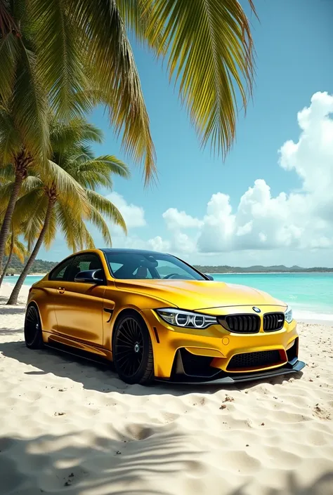
[[[4,216],[4,221],[1,225],[0,230],[0,273],[2,272],[2,263],[4,261],[6,242],[9,229],[11,227],[11,219],[13,217],[15,204],[18,200],[18,195],[20,194],[22,182],[27,177],[27,169],[31,163],[32,157],[30,156],[30,154],[27,154],[24,149],[20,151],[20,153],[18,153],[13,159],[13,165],[15,169],[15,182]]]

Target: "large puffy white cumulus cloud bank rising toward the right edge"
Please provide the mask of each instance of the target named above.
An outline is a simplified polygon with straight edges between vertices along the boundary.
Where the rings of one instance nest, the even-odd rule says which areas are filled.
[[[211,196],[202,218],[169,208],[163,213],[177,252],[318,249],[333,246],[333,96],[315,93],[297,114],[299,140],[279,150],[280,166],[294,171],[301,190],[273,197],[263,179],[254,181],[233,211],[223,192]],[[287,180],[287,177],[286,177]],[[195,234],[183,232],[195,228]],[[161,239],[162,242],[162,239]]]

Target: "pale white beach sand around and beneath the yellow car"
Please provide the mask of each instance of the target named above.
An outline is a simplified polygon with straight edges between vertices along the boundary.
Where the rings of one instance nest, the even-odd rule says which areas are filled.
[[[301,324],[303,375],[126,385],[22,341],[0,292],[0,494],[332,495],[333,328]],[[22,302],[25,302],[27,289]]]

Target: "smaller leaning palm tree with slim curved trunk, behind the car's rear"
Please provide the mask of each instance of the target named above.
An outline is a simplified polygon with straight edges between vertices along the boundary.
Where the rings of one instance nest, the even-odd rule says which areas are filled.
[[[93,157],[89,143],[101,139],[100,130],[83,119],[73,119],[69,124],[53,122],[50,138],[52,160],[45,169],[37,169],[34,176],[27,177],[27,192],[16,204],[15,213],[22,219],[28,249],[35,239],[37,241],[7,304],[17,303],[41,245],[44,243],[49,248],[58,228],[73,251],[94,246],[85,222],[97,227],[108,245],[111,245],[111,236],[105,218],[126,232],[119,210],[96,192],[97,187],[112,187],[111,174],[129,177],[128,167],[116,157]]]

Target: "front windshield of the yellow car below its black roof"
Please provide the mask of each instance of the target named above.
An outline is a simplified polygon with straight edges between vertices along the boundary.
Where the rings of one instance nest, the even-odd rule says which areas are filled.
[[[205,280],[193,268],[169,254],[105,253],[115,279],[186,279]]]

